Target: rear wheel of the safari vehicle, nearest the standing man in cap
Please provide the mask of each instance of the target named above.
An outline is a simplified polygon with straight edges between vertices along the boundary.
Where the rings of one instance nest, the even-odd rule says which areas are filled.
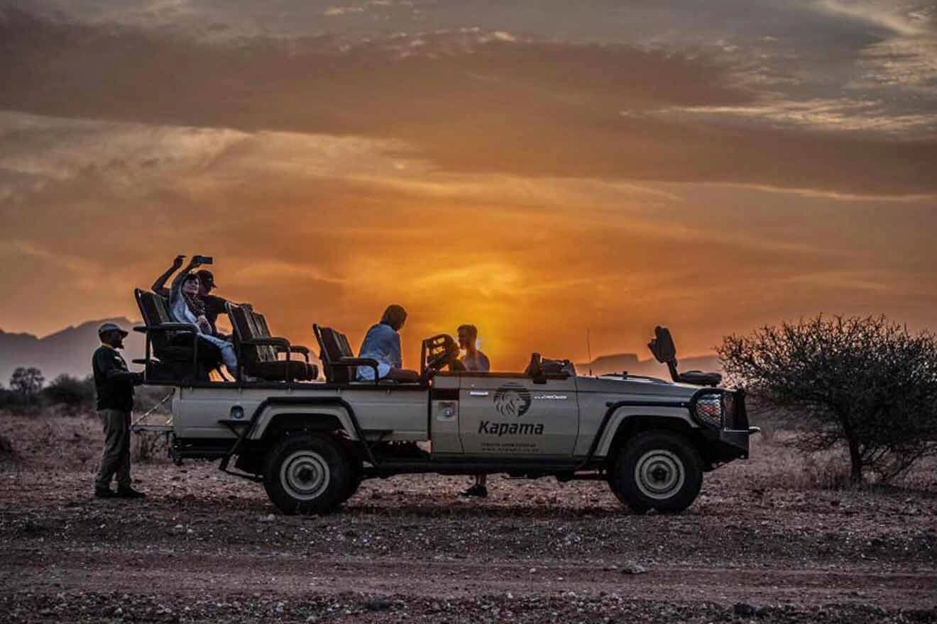
[[[284,435],[263,471],[263,488],[284,514],[327,514],[342,503],[350,481],[341,444],[305,432]]]

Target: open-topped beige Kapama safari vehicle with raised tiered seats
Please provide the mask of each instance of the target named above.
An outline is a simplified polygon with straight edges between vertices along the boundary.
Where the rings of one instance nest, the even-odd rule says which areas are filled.
[[[704,472],[748,457],[755,430],[741,390],[716,387],[715,373],[677,371],[662,327],[649,346],[673,381],[579,376],[569,361],[538,354],[523,372],[454,372],[446,369],[457,346],[439,335],[423,341],[419,383],[358,382],[357,367],[377,362],[315,326],[318,381],[308,349],[271,337],[257,312],[231,307],[242,367],[268,374],[211,381],[197,374],[205,360],[193,329],[169,323],[156,295],[137,298],[146,383],[174,389],[169,423],[135,428],[166,432],[179,462],[220,460],[222,471],[262,483],[286,514],[335,510],[364,479],[430,472],[601,480],[634,512],[679,512]],[[192,372],[179,377],[183,363]]]

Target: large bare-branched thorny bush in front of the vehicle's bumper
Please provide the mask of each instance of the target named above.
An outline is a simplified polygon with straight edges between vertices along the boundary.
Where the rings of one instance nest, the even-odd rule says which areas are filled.
[[[867,318],[822,315],[728,336],[717,348],[730,383],[806,426],[799,444],[844,444],[851,477],[887,481],[937,453],[937,340]]]

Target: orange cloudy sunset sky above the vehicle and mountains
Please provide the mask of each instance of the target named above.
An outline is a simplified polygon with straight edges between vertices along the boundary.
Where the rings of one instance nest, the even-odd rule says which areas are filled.
[[[681,355],[937,328],[937,11],[836,0],[0,0],[0,328],[175,254],[275,333]]]

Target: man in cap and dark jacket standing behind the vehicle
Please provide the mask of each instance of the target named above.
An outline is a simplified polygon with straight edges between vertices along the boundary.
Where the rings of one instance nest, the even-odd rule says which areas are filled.
[[[95,496],[99,499],[141,499],[145,494],[130,486],[130,412],[133,410],[133,386],[143,383],[143,373],[130,372],[117,352],[124,348],[126,331],[113,323],[97,328],[101,346],[91,358],[97,390],[97,415],[104,426],[104,452],[95,478]],[[117,491],[111,479],[117,477]]]

